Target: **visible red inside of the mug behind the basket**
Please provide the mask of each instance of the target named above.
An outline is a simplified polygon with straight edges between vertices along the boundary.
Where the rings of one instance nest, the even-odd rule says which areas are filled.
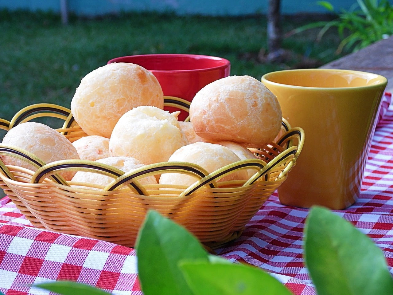
[[[225,68],[227,59],[193,54],[146,54],[116,57],[108,63],[134,63],[149,71],[194,71]]]

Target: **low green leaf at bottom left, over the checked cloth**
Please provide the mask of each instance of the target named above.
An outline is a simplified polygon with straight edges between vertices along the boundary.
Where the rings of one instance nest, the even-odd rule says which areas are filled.
[[[57,281],[33,285],[33,287],[52,291],[61,295],[110,295],[101,289],[72,281]]]

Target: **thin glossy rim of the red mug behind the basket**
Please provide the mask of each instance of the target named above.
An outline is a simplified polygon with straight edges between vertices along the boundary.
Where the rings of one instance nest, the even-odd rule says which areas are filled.
[[[126,61],[119,61],[121,59],[126,59],[126,58],[138,58],[138,57],[165,57],[165,58],[173,58],[173,57],[182,57],[182,58],[187,58],[189,57],[190,59],[196,60],[196,59],[205,59],[205,60],[212,60],[212,61],[220,61],[222,64],[216,65],[216,66],[210,66],[210,67],[204,67],[204,68],[197,68],[197,69],[188,69],[188,70],[149,70],[150,72],[154,73],[167,73],[167,72],[173,72],[173,73],[185,73],[185,72],[201,72],[201,71],[209,71],[209,70],[220,70],[227,68],[228,66],[231,65],[230,61],[228,59],[225,59],[223,57],[217,57],[217,56],[212,56],[212,55],[202,55],[202,54],[187,54],[187,53],[152,53],[152,54],[137,54],[137,55],[125,55],[125,56],[119,56],[110,59],[107,64],[110,63],[130,63]]]

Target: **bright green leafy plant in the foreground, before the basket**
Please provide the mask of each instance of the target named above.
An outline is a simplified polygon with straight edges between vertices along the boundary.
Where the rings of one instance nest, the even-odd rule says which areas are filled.
[[[393,294],[393,279],[382,251],[329,210],[310,210],[304,247],[305,263],[319,295]],[[231,264],[209,254],[191,233],[158,212],[147,214],[136,250],[145,295],[255,295],[262,290],[269,295],[291,294],[258,267]],[[64,295],[81,294],[75,288],[83,288],[75,282],[37,286]],[[92,289],[85,293],[107,294],[88,288]]]

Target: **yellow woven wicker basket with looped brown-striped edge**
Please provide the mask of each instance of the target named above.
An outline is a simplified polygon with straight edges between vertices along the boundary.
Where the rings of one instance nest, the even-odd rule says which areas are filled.
[[[165,105],[187,111],[189,102],[165,97]],[[69,109],[53,104],[26,107],[10,122],[0,119],[0,128],[7,131],[43,116],[63,119],[63,127],[57,130],[71,142],[86,136]],[[253,150],[258,159],[241,160],[209,175],[200,166],[185,162],[151,164],[131,173],[86,160],[45,164],[25,150],[0,144],[0,155],[24,159],[38,168],[30,171],[6,166],[0,160],[0,186],[38,228],[133,247],[147,210],[154,209],[215,248],[240,236],[246,223],[285,181],[296,163],[303,146],[303,130],[291,128],[283,120],[282,133],[277,142]],[[254,169],[255,174],[248,181],[216,181],[239,169]],[[107,187],[67,182],[58,174],[65,170],[112,175],[114,181]],[[168,172],[187,173],[200,180],[189,187],[138,183],[147,175]]]

